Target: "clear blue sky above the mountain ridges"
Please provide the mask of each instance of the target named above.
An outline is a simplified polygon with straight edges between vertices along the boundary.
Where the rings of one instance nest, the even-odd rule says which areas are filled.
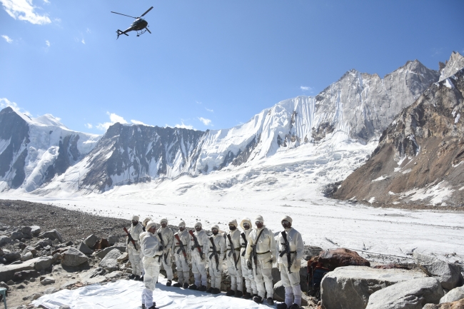
[[[145,16],[152,34],[116,29]],[[0,0],[0,105],[76,131],[230,128],[346,71],[464,54],[464,1]]]

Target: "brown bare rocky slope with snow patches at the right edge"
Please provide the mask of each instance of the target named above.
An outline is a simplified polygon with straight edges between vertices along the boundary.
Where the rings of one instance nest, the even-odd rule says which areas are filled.
[[[334,194],[370,203],[464,206],[464,69],[434,83],[383,132],[373,156]]]

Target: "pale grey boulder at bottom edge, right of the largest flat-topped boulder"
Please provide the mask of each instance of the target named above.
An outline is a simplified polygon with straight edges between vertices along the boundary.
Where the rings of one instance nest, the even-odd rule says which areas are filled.
[[[443,295],[436,278],[418,278],[378,290],[370,295],[365,309],[422,309],[425,304],[438,303]]]

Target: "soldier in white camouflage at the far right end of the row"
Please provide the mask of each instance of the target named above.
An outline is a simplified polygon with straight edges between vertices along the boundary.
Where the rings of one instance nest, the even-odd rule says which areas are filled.
[[[292,223],[292,218],[285,216],[282,221],[286,220]],[[301,258],[303,258],[303,238],[301,234],[294,228],[286,228],[285,233],[287,236],[288,244],[290,245],[290,256],[291,256],[291,268],[288,271],[288,259],[287,254],[284,253],[282,256],[279,254],[277,262],[278,268],[281,270],[282,285],[285,288],[285,303],[288,307],[296,303],[301,306],[301,286],[300,286],[300,268]],[[283,239],[282,233],[279,234],[278,238],[278,250],[282,253],[286,250],[285,240]],[[295,300],[293,300],[293,296]]]

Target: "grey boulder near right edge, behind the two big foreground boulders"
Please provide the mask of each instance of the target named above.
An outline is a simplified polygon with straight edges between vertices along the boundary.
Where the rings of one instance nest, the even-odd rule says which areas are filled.
[[[422,253],[413,253],[413,258],[416,264],[422,268],[425,273],[436,277],[443,288],[453,290],[460,285],[463,280],[463,275],[460,273],[460,266],[439,260],[433,255],[425,255]]]

